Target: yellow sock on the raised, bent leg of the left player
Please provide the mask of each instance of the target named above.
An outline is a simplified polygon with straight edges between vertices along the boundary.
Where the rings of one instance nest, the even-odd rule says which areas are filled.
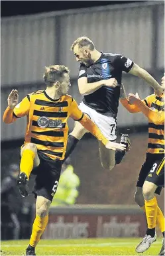
[[[20,170],[21,172],[25,172],[25,174],[27,174],[28,179],[30,176],[30,172],[32,171],[32,168],[33,168],[34,157],[35,157],[35,153],[30,149],[25,149],[21,157]]]

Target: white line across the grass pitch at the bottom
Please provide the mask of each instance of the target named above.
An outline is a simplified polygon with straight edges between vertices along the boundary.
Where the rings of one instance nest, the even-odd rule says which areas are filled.
[[[103,247],[103,246],[112,246],[112,247],[116,247],[116,246],[123,246],[123,245],[127,245],[127,246],[133,246],[135,245],[135,242],[121,242],[121,243],[62,243],[62,244],[58,244],[56,245],[54,243],[54,245],[37,245],[37,247]],[[154,245],[160,245],[162,244],[161,241],[157,241],[156,243],[154,243]],[[22,247],[23,245],[2,245],[1,247]],[[25,245],[26,246],[26,245]]]

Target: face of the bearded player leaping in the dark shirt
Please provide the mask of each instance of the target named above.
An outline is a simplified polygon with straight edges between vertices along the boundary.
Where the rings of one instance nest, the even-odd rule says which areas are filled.
[[[85,66],[89,66],[91,63],[93,63],[89,50],[79,48],[78,44],[74,46],[74,55],[76,56],[76,60],[82,62],[85,64]]]

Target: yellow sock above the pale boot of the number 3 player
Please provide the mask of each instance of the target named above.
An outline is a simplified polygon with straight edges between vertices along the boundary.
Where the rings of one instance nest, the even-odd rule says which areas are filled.
[[[158,203],[155,196],[149,201],[145,200],[145,208],[147,225],[149,229],[152,229],[156,227],[156,217],[158,210]]]

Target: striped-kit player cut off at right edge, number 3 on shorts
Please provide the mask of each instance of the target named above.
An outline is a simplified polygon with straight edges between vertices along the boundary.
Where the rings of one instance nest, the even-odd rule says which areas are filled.
[[[146,235],[136,247],[138,253],[143,253],[156,241],[156,224],[164,237],[164,216],[155,197],[155,193],[160,194],[164,186],[164,94],[160,97],[152,94],[143,100],[140,100],[138,94],[129,94],[127,99],[123,86],[120,101],[129,112],[141,111],[148,118],[148,150],[135,193],[135,202],[146,212],[148,225]],[[159,255],[164,255],[164,239]]]

